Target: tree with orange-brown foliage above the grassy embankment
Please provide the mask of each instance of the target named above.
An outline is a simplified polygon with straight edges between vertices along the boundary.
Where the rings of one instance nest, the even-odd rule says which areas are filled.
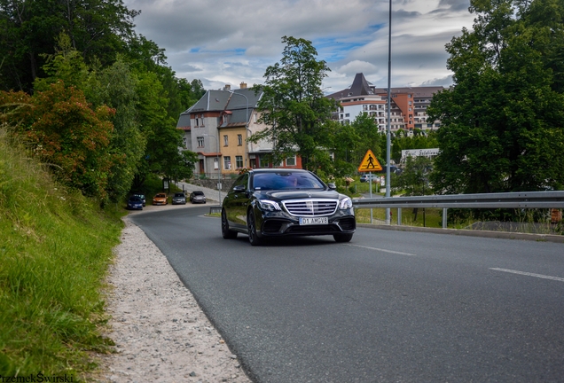
[[[90,109],[82,91],[62,81],[33,97],[21,91],[0,92],[0,106],[15,105],[20,107],[4,118],[18,121],[15,131],[30,151],[50,166],[60,182],[105,200],[114,161],[108,152],[114,111],[107,106]]]

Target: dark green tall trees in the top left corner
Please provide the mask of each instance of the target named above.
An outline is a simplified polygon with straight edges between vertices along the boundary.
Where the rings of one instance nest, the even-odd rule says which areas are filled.
[[[87,64],[110,65],[134,35],[138,13],[121,0],[0,0],[0,89],[31,93],[60,33]]]

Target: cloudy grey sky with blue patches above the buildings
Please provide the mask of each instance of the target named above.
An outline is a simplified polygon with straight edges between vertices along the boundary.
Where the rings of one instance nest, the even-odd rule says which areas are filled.
[[[356,73],[388,87],[388,0],[124,0],[168,57],[176,77],[220,89],[263,83],[280,58],[282,36],[311,41],[331,68],[325,93]],[[393,0],[392,87],[451,84],[444,45],[471,29],[469,0]]]

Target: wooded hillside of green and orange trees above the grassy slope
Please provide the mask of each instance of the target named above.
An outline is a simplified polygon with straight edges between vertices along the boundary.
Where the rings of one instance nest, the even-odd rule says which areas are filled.
[[[177,116],[204,93],[137,35],[121,1],[0,2],[0,118],[58,181],[104,205],[192,176]]]

